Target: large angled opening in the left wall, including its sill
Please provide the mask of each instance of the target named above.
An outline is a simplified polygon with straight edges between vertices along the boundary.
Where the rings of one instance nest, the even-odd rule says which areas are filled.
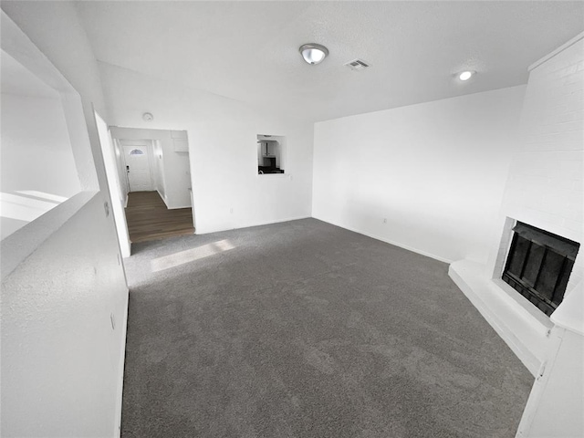
[[[4,12],[1,21],[4,279],[99,195],[99,180],[79,93]]]

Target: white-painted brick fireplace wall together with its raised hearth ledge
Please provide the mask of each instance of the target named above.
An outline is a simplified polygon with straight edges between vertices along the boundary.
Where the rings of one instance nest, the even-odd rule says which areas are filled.
[[[485,265],[458,260],[449,274],[536,376],[553,354],[554,315],[548,318],[501,280],[501,274],[516,221],[582,244],[584,33],[529,68],[519,130],[488,260]],[[578,287],[583,251],[576,257],[565,299],[572,292],[574,297],[583,293]]]

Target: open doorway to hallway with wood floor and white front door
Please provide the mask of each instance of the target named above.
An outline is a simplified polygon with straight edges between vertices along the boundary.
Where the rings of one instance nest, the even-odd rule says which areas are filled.
[[[194,233],[185,130],[110,127],[131,243]]]

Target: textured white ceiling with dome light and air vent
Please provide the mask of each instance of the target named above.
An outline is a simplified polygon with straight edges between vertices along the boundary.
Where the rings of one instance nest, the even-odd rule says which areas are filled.
[[[328,120],[527,83],[584,2],[78,2],[100,61]],[[315,42],[318,66],[298,53]],[[370,68],[343,67],[359,57]],[[454,73],[478,72],[462,83]]]

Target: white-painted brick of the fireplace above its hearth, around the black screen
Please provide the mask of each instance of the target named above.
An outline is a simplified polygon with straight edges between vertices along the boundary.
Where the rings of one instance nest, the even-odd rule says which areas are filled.
[[[490,258],[503,270],[513,220],[582,243],[584,199],[584,38],[580,35],[530,67],[514,154],[501,207],[501,242]],[[506,218],[510,218],[508,220]],[[582,280],[579,254],[566,294]]]

